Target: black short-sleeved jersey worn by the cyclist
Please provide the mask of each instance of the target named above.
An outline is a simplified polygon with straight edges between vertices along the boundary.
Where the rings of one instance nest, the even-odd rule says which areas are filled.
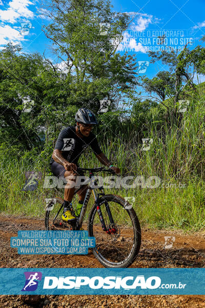
[[[59,133],[54,149],[61,150],[62,156],[69,163],[77,164],[80,155],[88,146],[90,146],[97,155],[102,152],[92,132],[90,132],[88,137],[78,137],[75,132],[75,126],[68,126]],[[53,162],[54,160],[51,158],[50,164]]]

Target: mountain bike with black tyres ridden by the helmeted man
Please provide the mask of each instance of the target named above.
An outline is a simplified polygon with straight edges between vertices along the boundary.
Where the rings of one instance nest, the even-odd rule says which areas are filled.
[[[64,200],[54,197],[46,208],[46,230],[79,230],[92,193],[94,204],[90,210],[87,228],[89,237],[95,237],[96,245],[91,248],[93,254],[105,267],[128,267],[136,259],[141,245],[141,229],[137,215],[124,198],[106,195],[103,186],[98,185],[95,176],[98,172],[115,174],[114,171],[98,167],[77,168],[77,172],[89,172],[89,178],[83,183],[88,185],[88,188],[79,217],[75,216],[72,208],[72,215],[76,217],[76,222],[72,225],[64,222],[61,219]],[[74,195],[81,187],[75,190]],[[96,189],[100,192],[96,192]]]

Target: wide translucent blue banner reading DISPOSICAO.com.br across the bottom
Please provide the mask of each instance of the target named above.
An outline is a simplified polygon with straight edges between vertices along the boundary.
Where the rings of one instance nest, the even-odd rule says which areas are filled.
[[[0,294],[204,295],[205,268],[0,268]]]

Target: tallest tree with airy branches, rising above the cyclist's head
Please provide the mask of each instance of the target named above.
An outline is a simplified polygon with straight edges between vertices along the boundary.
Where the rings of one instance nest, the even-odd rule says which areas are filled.
[[[53,52],[67,65],[68,104],[97,112],[100,100],[136,92],[135,57],[116,53],[129,15],[111,11],[110,1],[52,0],[42,7],[53,23],[43,27]],[[107,29],[100,31],[100,25]]]

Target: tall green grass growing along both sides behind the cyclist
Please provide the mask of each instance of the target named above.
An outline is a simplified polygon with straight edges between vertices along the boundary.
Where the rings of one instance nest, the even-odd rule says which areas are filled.
[[[134,126],[129,126],[121,135],[104,138],[106,141],[101,149],[125,176],[144,176],[145,180],[157,176],[161,179],[159,187],[153,189],[105,189],[106,193],[135,197],[133,207],[142,226],[186,230],[205,228],[205,97],[200,95],[200,99],[192,100],[188,110],[181,114],[177,120],[180,123],[170,124],[154,111],[154,116],[149,118],[150,122],[145,123],[143,136],[153,139],[149,151],[141,150],[142,142],[139,142]],[[20,152],[15,147],[0,148],[1,211],[44,217],[45,198],[56,194],[54,189],[43,187],[45,176],[49,174],[51,152],[51,147],[40,154],[37,149]],[[91,151],[86,152],[79,163],[81,167],[100,166]],[[41,171],[43,178],[35,191],[24,192],[25,171],[31,170]],[[180,188],[179,183],[184,187]],[[57,194],[60,195],[60,192]],[[89,208],[92,204],[93,198]]]

